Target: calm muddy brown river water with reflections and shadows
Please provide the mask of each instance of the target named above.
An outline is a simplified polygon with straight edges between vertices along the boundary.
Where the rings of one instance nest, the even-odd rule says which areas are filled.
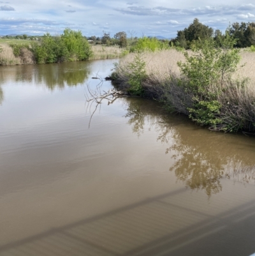
[[[255,138],[140,98],[94,112],[113,62],[0,67],[0,255],[254,253]]]

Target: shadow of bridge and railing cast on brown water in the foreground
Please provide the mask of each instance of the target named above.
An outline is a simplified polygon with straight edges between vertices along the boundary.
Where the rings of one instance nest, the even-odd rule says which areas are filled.
[[[182,188],[2,245],[0,255],[251,255],[254,186],[249,192],[205,205],[202,193]]]

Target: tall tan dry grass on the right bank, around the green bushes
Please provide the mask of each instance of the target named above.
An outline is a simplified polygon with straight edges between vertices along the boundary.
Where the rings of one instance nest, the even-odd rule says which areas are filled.
[[[177,61],[185,62],[182,52],[171,49],[147,52],[141,57],[146,63],[147,79],[142,82],[145,95],[163,100],[168,109],[189,114],[189,108],[194,104],[193,93],[184,89],[185,86],[179,86],[180,81],[182,84],[187,83],[177,66]],[[238,70],[231,79],[208,87],[208,91],[217,94],[217,101],[222,106],[219,114],[222,123],[214,130],[255,132],[255,53],[242,51],[241,57]],[[120,59],[115,70],[117,82],[123,89],[129,87],[129,64],[134,58],[135,54],[129,54]],[[243,64],[245,66],[241,67]]]

